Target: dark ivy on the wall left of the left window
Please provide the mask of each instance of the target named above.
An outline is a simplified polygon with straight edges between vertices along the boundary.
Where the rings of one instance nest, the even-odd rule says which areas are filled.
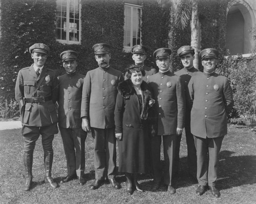
[[[18,71],[33,63],[28,48],[35,42],[50,45],[55,41],[55,8],[50,0],[2,0],[0,99],[14,98]]]

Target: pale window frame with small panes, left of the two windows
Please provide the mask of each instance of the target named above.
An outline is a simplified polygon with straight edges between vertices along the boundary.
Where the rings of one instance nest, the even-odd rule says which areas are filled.
[[[60,0],[62,1],[62,0]],[[72,0],[66,0],[67,1],[67,5],[70,5],[70,1]],[[56,4],[57,4],[57,1],[56,1]],[[69,32],[66,32],[66,39],[67,40],[62,40],[62,39],[56,39],[58,42],[60,43],[63,43],[63,44],[81,44],[81,1],[78,0],[78,5],[79,5],[79,34],[78,34],[78,37],[79,37],[79,40],[78,41],[72,41],[72,40],[69,40]],[[70,7],[69,6],[66,6],[67,7],[67,25],[66,25],[66,28],[68,29],[69,28],[69,20],[70,19]],[[60,16],[61,17],[61,16]],[[56,18],[57,18],[57,15],[56,15]],[[56,32],[57,32],[57,20],[56,20]],[[63,29],[63,28],[61,28]]]

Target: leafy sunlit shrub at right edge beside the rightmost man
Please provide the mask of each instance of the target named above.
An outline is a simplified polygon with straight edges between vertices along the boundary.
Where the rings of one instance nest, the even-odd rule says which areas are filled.
[[[223,58],[218,72],[228,77],[233,89],[234,106],[230,122],[247,126],[256,123],[256,58],[228,56]]]

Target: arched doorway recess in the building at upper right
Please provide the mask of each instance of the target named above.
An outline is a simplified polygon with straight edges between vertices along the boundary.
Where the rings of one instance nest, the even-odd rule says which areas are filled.
[[[233,1],[227,12],[226,48],[231,55],[248,54],[253,49],[252,12],[244,1]]]

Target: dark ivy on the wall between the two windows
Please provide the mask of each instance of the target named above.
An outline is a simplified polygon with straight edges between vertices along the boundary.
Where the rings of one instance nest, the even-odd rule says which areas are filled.
[[[105,42],[111,46],[111,66],[122,70],[124,4],[119,0],[82,0],[82,47],[86,72],[97,67],[92,47]]]

